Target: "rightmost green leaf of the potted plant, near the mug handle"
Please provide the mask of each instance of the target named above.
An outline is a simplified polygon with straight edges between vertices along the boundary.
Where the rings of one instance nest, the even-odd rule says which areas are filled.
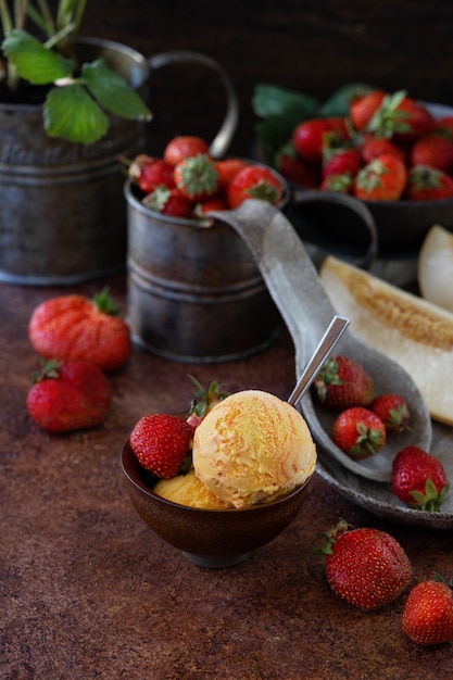
[[[139,95],[102,59],[84,64],[81,75],[91,95],[110,113],[135,121],[151,119],[152,114]]]

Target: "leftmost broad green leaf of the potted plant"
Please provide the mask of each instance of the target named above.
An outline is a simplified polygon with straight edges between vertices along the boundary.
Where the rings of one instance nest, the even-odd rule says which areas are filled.
[[[48,85],[72,75],[74,62],[48,50],[25,30],[14,29],[2,42],[8,59],[32,85]]]

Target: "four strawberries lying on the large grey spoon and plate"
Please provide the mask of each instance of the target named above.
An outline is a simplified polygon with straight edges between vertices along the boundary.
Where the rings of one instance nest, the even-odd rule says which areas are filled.
[[[374,395],[364,367],[350,356],[329,358],[316,376],[313,390],[319,402],[339,412],[332,439],[356,461],[376,455],[387,437],[410,427],[410,412],[400,394]],[[392,491],[411,507],[436,512],[449,490],[442,463],[419,446],[402,449],[392,464]]]

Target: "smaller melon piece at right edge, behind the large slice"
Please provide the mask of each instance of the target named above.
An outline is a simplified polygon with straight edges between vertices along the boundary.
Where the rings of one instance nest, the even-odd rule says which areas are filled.
[[[439,225],[421,243],[418,286],[426,300],[453,312],[453,234]]]

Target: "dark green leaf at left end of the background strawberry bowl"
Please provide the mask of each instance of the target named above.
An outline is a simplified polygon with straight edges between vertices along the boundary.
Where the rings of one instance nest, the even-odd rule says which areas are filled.
[[[290,114],[302,121],[317,115],[319,102],[294,90],[259,84],[253,92],[252,108],[261,118]]]

